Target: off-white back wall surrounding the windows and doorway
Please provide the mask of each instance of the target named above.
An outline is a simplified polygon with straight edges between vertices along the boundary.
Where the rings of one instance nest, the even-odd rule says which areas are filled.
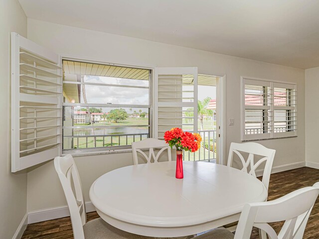
[[[137,38],[28,19],[28,38],[62,56],[137,66],[197,66],[200,74],[227,75],[227,151],[240,141],[240,76],[296,82],[298,85],[298,137],[259,141],[277,150],[274,166],[305,161],[305,71],[259,61],[211,53]],[[132,164],[132,155],[107,154],[75,158],[85,199],[93,181],[116,167]],[[52,162],[28,172],[28,211],[65,205]],[[41,195],[41,197],[39,197]]]

